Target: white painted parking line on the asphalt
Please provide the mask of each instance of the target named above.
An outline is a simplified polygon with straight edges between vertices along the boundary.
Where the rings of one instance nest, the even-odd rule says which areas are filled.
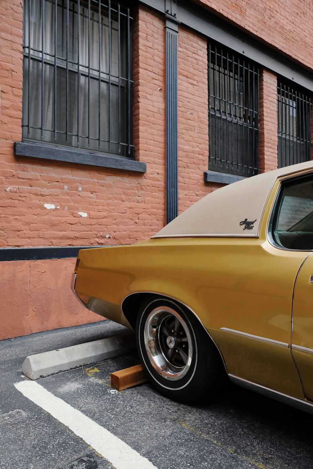
[[[79,410],[54,396],[35,381],[21,381],[16,389],[92,446],[116,469],[157,469],[137,451]]]

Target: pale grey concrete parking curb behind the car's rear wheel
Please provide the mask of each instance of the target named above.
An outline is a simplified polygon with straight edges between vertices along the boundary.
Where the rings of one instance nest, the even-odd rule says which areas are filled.
[[[60,371],[102,362],[107,358],[134,350],[136,350],[135,334],[126,333],[27,356],[23,362],[22,371],[30,379],[45,378]]]

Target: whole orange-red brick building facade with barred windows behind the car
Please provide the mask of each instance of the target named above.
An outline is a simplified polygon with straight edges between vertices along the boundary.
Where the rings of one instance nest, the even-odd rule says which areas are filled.
[[[1,0],[0,18],[0,339],[99,320],[69,288],[78,247],[311,159],[303,1]]]

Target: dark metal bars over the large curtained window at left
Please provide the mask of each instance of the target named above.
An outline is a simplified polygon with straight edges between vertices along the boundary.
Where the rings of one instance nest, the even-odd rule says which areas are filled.
[[[130,8],[25,0],[23,55],[23,139],[131,156]]]

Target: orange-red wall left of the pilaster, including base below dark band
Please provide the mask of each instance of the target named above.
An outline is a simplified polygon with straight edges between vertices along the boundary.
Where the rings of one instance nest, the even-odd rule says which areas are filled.
[[[164,226],[164,21],[145,8],[134,13],[135,158],[147,164],[145,174],[14,157],[22,134],[23,11],[19,1],[0,2],[0,247],[128,244]],[[0,340],[101,319],[71,293],[74,265],[0,262]]]

